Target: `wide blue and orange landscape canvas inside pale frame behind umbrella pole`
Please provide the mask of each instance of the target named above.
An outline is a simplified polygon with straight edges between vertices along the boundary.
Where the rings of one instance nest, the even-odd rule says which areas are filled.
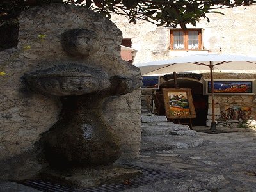
[[[214,93],[253,93],[252,81],[214,81]],[[207,81],[207,92],[211,93],[211,81]]]

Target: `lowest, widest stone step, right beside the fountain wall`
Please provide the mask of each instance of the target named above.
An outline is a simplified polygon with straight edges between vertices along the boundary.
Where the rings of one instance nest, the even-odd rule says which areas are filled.
[[[198,147],[204,143],[204,138],[200,136],[173,136],[173,135],[155,135],[142,136],[140,151],[147,152],[151,150],[172,150],[174,148]]]

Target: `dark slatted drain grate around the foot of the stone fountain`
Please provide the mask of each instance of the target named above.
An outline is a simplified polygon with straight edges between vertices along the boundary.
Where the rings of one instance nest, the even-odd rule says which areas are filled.
[[[93,188],[88,189],[74,189],[74,188],[68,188],[65,186],[60,186],[58,184],[52,184],[50,182],[42,182],[38,180],[26,180],[19,182],[20,184],[24,184],[26,186],[29,186],[31,188],[38,189],[39,191],[45,191],[45,192],[68,192],[68,191],[84,191],[84,192],[117,192],[117,191],[123,191],[125,189],[131,189],[131,188],[138,188],[140,186],[144,186],[146,184],[150,184],[152,182],[156,182],[158,180],[163,179],[179,179],[181,177],[184,177],[185,175],[181,175],[179,173],[167,173],[162,172],[161,170],[154,170],[150,168],[141,168],[139,166],[131,166],[126,165],[125,168],[137,168],[138,170],[141,170],[144,172],[143,176],[131,179],[131,184],[125,185],[125,184],[106,184],[102,186],[97,186]]]

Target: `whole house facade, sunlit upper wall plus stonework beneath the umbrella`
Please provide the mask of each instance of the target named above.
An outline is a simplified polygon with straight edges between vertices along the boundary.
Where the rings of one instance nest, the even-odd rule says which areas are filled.
[[[254,22],[256,15],[256,5],[248,7],[237,7],[220,10],[224,15],[209,13],[210,19],[208,23],[206,19],[200,20],[196,26],[187,25],[188,30],[200,31],[200,47],[194,50],[170,49],[172,47],[171,31],[179,30],[179,28],[157,27],[148,22],[139,20],[137,24],[129,24],[128,20],[122,16],[113,15],[113,21],[116,26],[121,29],[125,39],[130,38],[134,49],[134,62],[144,63],[149,61],[166,60],[179,56],[188,56],[194,54],[241,54],[246,56],[256,56],[256,35],[254,31]],[[197,71],[198,72],[198,71]],[[214,79],[255,79],[255,74],[249,74],[246,67],[243,71],[220,71],[215,69]],[[172,73],[170,71],[170,73]],[[210,79],[207,72],[204,73],[202,79]],[[202,81],[200,81],[202,84]],[[150,100],[148,91],[145,99]],[[206,125],[211,123],[211,96],[208,97],[208,114]],[[254,95],[217,95],[216,96],[216,118],[217,126],[222,127],[248,127],[253,125],[255,120],[255,96]],[[152,104],[147,103],[148,108]],[[243,108],[244,106],[244,108]],[[225,108],[233,110],[233,108],[249,109],[250,115],[248,120],[241,121],[237,119],[223,119],[221,110]],[[242,108],[241,108],[242,107]],[[242,113],[242,112],[241,112]],[[240,120],[239,120],[240,119]],[[245,123],[244,123],[245,122]],[[248,123],[246,123],[248,122]]]

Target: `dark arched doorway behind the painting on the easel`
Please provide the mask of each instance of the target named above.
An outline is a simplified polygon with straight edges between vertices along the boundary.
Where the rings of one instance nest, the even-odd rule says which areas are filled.
[[[193,126],[205,126],[208,114],[208,96],[203,95],[203,84],[188,79],[177,79],[179,88],[190,88],[196,111],[196,118],[192,119]],[[160,85],[160,88],[174,88],[174,81],[169,80]]]

